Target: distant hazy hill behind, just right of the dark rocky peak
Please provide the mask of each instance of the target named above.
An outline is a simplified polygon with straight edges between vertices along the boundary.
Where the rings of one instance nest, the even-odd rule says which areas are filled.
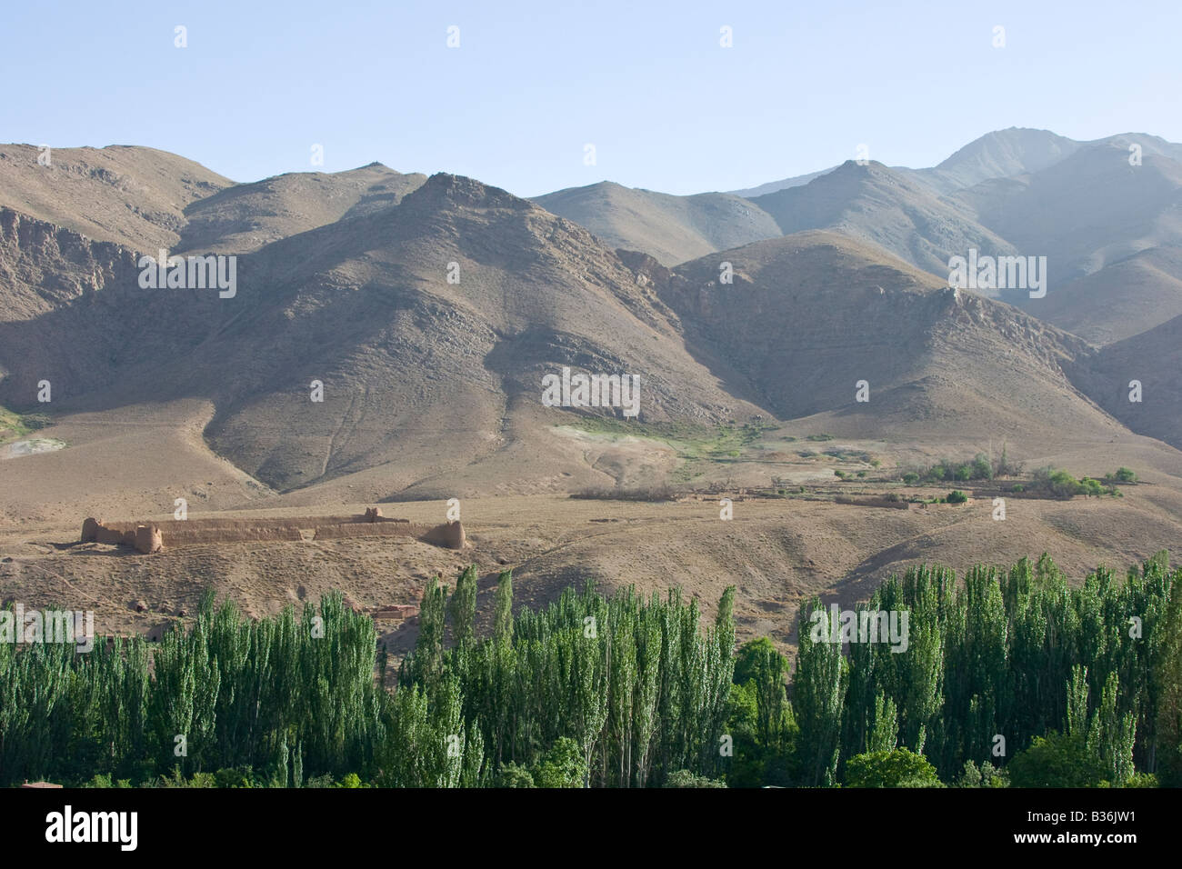
[[[768,214],[729,193],[671,196],[602,181],[534,201],[609,247],[643,251],[667,266],[780,234]]]

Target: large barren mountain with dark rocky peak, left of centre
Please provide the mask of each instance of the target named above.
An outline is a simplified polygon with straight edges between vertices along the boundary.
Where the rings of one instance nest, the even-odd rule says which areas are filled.
[[[30,316],[4,324],[0,402],[28,407],[43,378],[56,410],[208,400],[214,448],[277,488],[390,465],[391,493],[457,472],[522,436],[563,365],[639,376],[641,420],[758,410],[590,233],[468,179],[239,258],[229,299],[142,290],[130,252],[8,220],[7,292]],[[44,272],[72,277],[46,294]]]

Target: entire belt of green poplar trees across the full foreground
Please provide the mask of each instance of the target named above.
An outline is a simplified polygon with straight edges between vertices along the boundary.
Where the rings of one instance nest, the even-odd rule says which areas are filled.
[[[207,594],[158,644],[2,643],[0,784],[829,786],[904,750],[952,782],[1056,732],[1111,784],[1182,780],[1182,571],[1164,553],[1076,588],[1046,556],[962,582],[911,569],[865,604],[909,612],[905,651],[813,641],[830,614],[810,601],[791,685],[769,642],[736,655],[733,588],[704,629],[677,591],[590,584],[514,616],[505,571],[478,636],[478,583],[428,585],[396,674],[339,595],[251,620]]]

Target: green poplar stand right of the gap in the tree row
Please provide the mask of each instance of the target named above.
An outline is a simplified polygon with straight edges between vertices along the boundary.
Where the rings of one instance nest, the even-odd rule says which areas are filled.
[[[807,602],[791,702],[774,649],[745,649],[736,682],[758,709],[766,780],[829,786],[847,780],[853,758],[905,748],[953,783],[967,764],[1005,767],[1034,742],[1039,763],[1072,769],[1024,772],[1025,784],[1119,786],[1139,771],[1182,785],[1182,570],[1165,552],[1074,588],[1045,555],[976,566],[961,582],[914,568],[863,609],[907,611],[907,651],[814,642],[814,615],[833,636],[839,625]],[[1047,737],[1061,751],[1041,745]]]

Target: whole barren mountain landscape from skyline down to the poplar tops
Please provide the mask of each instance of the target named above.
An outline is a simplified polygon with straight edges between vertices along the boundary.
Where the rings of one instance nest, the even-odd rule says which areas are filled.
[[[583,575],[657,588],[676,563],[716,599],[739,571],[740,621],[764,630],[805,591],[860,594],[920,558],[1054,549],[1083,570],[1182,533],[1182,148],[1151,136],[1004,130],[930,169],[847,161],[747,192],[602,182],[533,200],[377,163],[235,183],[149,148],[39,154],[0,145],[0,456],[40,445],[0,461],[0,545],[27,556],[6,582],[109,597],[109,559],[46,555],[25,530],[167,515],[177,498],[219,515],[398,501],[430,523],[460,498],[479,558],[521,565],[531,594]],[[235,292],[145,286],[162,249],[233,257]],[[1045,297],[950,286],[969,249],[1046,257]],[[564,369],[638,377],[639,415],[548,406],[543,380]],[[44,437],[6,435],[9,410],[44,417]],[[986,532],[970,511],[868,523],[832,498],[748,504],[742,536],[693,505],[565,500],[803,491],[1006,449],[1151,485],[986,512]],[[311,577],[291,595],[384,594],[358,578],[384,550],[273,556],[121,570],[196,595],[182,577],[239,582],[249,563],[259,601],[287,572]]]

